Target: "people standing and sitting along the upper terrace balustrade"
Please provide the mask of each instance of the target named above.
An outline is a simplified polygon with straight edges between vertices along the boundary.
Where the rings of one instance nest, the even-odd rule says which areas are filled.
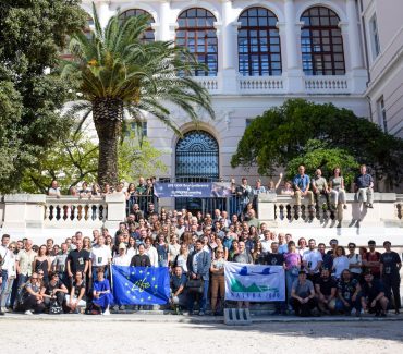
[[[296,211],[301,211],[302,198],[306,198],[308,210],[314,213],[315,210],[319,215],[319,210],[326,208],[330,211],[337,211],[339,221],[343,219],[342,210],[346,209],[346,186],[344,178],[339,167],[333,169],[333,174],[327,180],[320,169],[315,171],[315,175],[310,178],[305,173],[305,167],[298,167],[298,173],[292,181],[284,181],[282,187],[283,174],[280,173],[277,183],[270,181],[268,186],[264,186],[260,180],[256,181],[255,186],[248,184],[246,178],[243,178],[241,184],[237,184],[234,179],[230,180],[229,188],[231,188],[230,205],[227,206],[230,215],[236,213],[243,219],[248,209],[257,211],[257,199],[261,193],[274,193],[280,195],[289,195],[295,197]],[[81,187],[72,186],[70,195],[78,197],[96,197],[105,196],[111,193],[123,194],[126,198],[126,215],[142,212],[144,217],[150,216],[158,210],[158,198],[154,194],[156,178],[138,179],[138,184],[121,182],[115,186],[106,183],[99,186],[94,183],[91,186],[87,182],[83,182]],[[374,204],[374,179],[367,173],[367,168],[362,164],[359,174],[354,180],[354,192],[356,200],[364,204],[368,208],[373,208]],[[54,180],[48,191],[49,196],[60,197],[61,192],[58,182]],[[326,203],[321,204],[320,198],[323,197]],[[223,206],[224,203],[221,203]],[[219,204],[217,204],[219,206]],[[223,208],[220,208],[223,209]]]

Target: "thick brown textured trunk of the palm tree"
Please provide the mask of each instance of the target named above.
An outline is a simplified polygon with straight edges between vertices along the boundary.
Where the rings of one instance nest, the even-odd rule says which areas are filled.
[[[93,118],[99,138],[98,183],[118,184],[118,143],[122,131],[123,102],[114,98],[93,101]]]

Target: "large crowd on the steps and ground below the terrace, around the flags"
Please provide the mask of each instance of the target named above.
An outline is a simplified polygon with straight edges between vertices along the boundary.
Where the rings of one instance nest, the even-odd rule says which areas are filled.
[[[171,305],[198,314],[207,305],[213,314],[224,305],[224,264],[282,266],[285,270],[286,301],[277,303],[277,313],[300,315],[351,313],[362,309],[386,315],[389,307],[400,310],[399,254],[384,242],[384,253],[350,243],[347,252],[337,240],[316,245],[290,233],[270,231],[248,208],[244,220],[236,213],[216,209],[213,215],[194,216],[186,209],[133,212],[110,234],[94,230],[91,237],[76,232],[61,245],[47,240],[11,242],[2,236],[1,312],[10,309],[49,313],[84,309],[109,314],[113,304],[110,265],[167,267],[171,273]],[[393,304],[393,305],[392,305]],[[237,303],[248,306],[248,303]]]

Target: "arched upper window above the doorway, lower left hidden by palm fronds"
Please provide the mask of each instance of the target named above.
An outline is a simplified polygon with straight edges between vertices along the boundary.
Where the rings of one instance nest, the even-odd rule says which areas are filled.
[[[217,75],[217,33],[213,27],[215,15],[200,8],[183,11],[178,17],[176,46],[187,47],[209,71],[197,70],[195,76]]]

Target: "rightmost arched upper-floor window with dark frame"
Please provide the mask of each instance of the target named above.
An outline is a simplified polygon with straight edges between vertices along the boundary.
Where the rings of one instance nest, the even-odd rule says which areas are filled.
[[[343,37],[334,11],[315,7],[301,16],[303,69],[306,75],[344,75]],[[358,50],[358,48],[357,48]]]

